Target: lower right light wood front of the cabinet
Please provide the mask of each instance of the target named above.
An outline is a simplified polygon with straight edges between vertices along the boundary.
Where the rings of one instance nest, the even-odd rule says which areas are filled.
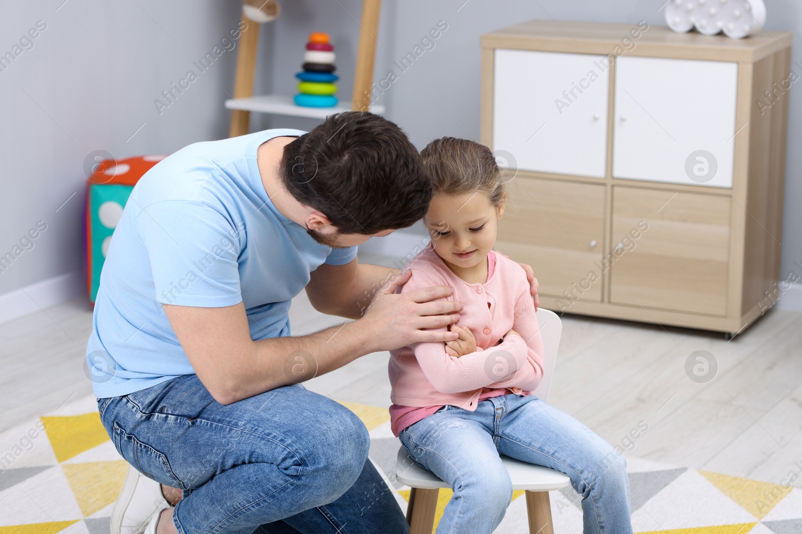
[[[727,315],[730,198],[614,187],[611,243],[649,225],[610,267],[610,302]],[[634,243],[634,245],[630,245]]]

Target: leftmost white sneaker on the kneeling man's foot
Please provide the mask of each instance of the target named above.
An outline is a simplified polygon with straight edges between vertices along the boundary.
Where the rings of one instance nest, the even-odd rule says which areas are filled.
[[[129,465],[123,491],[119,492],[111,511],[109,530],[111,534],[140,534],[149,527],[148,521],[153,514],[161,513],[164,508],[170,508],[170,505],[164,499],[161,484]],[[155,524],[153,528],[156,528]]]

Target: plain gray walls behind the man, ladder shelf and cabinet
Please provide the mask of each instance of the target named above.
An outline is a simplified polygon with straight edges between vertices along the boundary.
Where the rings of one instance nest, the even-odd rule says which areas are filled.
[[[38,20],[48,25],[34,49],[0,73],[0,155],[5,163],[0,175],[0,254],[38,220],[48,224],[34,250],[0,273],[0,294],[80,268],[82,167],[89,152],[103,149],[117,157],[170,152],[202,139],[220,139],[228,132],[229,113],[221,102],[233,87],[235,52],[225,52],[162,114],[153,100],[237,24],[239,0],[137,0],[139,5],[68,0],[55,11],[62,1],[6,0],[0,18],[0,53]],[[767,3],[766,26],[795,30],[793,59],[802,61],[802,6],[798,0]],[[481,33],[531,18],[633,23],[646,19],[663,24],[660,6],[662,0],[384,0],[377,82],[438,21],[447,22],[448,30],[378,102],[387,106],[387,117],[398,122],[418,147],[442,135],[476,139]],[[332,35],[337,47],[339,93],[350,95],[361,2],[283,0],[282,8],[277,22],[262,26],[257,93],[293,94],[306,38],[311,30],[322,30]],[[802,75],[802,69],[797,74]],[[794,148],[802,144],[800,91],[793,89],[789,98],[784,273],[802,260],[798,208],[802,153]],[[309,129],[317,123],[280,116],[254,118],[253,130]],[[143,122],[142,130],[128,140]],[[78,195],[56,213],[75,191]]]

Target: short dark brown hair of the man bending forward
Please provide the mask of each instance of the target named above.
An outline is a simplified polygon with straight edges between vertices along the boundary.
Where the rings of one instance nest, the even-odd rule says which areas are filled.
[[[405,228],[425,215],[431,183],[394,122],[367,111],[329,115],[284,148],[284,185],[342,234]]]

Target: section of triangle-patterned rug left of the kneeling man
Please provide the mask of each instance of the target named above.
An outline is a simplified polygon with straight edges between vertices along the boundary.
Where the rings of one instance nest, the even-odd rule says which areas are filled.
[[[108,534],[128,463],[94,397],[0,434],[0,534]]]

